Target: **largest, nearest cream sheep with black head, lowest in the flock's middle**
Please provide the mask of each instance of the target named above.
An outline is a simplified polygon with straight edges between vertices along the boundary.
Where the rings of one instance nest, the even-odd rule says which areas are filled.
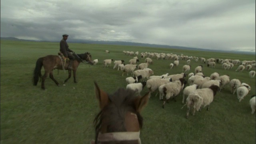
[[[195,112],[200,110],[202,107],[207,106],[207,110],[209,110],[209,105],[212,103],[214,96],[216,95],[217,91],[219,90],[218,86],[210,86],[209,88],[203,88],[194,90],[188,95],[187,98],[187,114],[186,118],[189,116],[190,109],[193,108],[193,116],[195,115]]]

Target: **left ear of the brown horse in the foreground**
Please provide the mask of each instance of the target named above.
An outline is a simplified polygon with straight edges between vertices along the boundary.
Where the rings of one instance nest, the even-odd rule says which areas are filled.
[[[103,90],[101,90],[96,82],[94,82],[94,84],[95,84],[96,98],[98,99],[100,104],[100,109],[102,110],[102,108],[104,108],[108,104],[108,94]]]

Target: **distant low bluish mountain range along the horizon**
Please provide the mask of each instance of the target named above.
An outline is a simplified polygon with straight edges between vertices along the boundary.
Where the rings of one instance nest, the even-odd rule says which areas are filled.
[[[41,41],[41,40],[23,40],[14,37],[0,37],[0,40],[18,40],[18,41],[32,41],[32,42],[59,42],[59,41]],[[191,48],[185,46],[168,46],[160,44],[144,44],[138,42],[120,42],[120,41],[104,41],[104,40],[76,40],[70,39],[69,43],[84,43],[84,44],[110,44],[110,45],[123,45],[123,46],[144,46],[152,48],[173,48],[181,50],[199,50],[199,51],[210,51],[210,52],[224,52],[224,53],[234,53],[234,54],[255,54],[255,52],[242,52],[242,51],[228,51],[228,50],[209,50],[203,48]]]

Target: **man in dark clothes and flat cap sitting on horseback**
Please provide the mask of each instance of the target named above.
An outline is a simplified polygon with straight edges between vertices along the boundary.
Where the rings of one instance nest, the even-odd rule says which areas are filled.
[[[74,51],[68,48],[68,43],[66,42],[66,40],[68,39],[68,35],[63,34],[62,37],[63,37],[62,40],[60,40],[60,52],[65,56],[65,58],[70,59],[70,62],[68,64],[68,69],[72,70],[72,64],[73,64],[73,60],[75,59],[75,56],[73,56],[71,52],[74,53]]]

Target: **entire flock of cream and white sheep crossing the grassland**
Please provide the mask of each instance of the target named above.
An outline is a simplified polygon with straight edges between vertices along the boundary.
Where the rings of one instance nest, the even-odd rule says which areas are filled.
[[[106,50],[106,53],[109,53]],[[209,108],[210,103],[213,101],[214,96],[217,92],[221,91],[226,85],[230,86],[231,94],[237,94],[237,98],[239,102],[248,94],[251,87],[246,84],[240,82],[238,79],[230,80],[230,76],[223,75],[220,76],[218,72],[214,72],[210,75],[210,77],[204,76],[202,71],[203,66],[199,65],[195,68],[194,73],[190,71],[191,66],[189,65],[192,60],[195,62],[200,61],[202,64],[206,64],[208,67],[214,68],[217,64],[222,64],[222,68],[225,70],[231,69],[233,66],[239,64],[236,71],[241,72],[242,70],[251,70],[249,72],[249,76],[253,78],[255,76],[255,60],[253,61],[242,61],[239,60],[230,60],[230,59],[218,59],[218,58],[197,58],[192,56],[184,56],[176,55],[176,54],[165,54],[165,53],[150,53],[150,52],[142,52],[139,55],[139,52],[129,52],[123,51],[123,54],[129,56],[135,56],[131,60],[129,60],[129,64],[124,64],[124,60],[113,60],[107,59],[103,61],[104,67],[111,66],[112,61],[114,61],[114,68],[118,70],[122,70],[122,76],[125,73],[131,74],[131,77],[127,77],[125,80],[127,82],[127,89],[132,89],[136,91],[138,95],[142,89],[146,86],[148,90],[150,90],[151,94],[156,92],[156,95],[159,94],[159,99],[163,100],[162,108],[164,108],[164,104],[170,98],[174,98],[176,101],[176,96],[183,91],[183,99],[182,104],[184,104],[184,100],[186,98],[186,104],[188,111],[186,117],[189,116],[190,110],[192,110],[192,114],[195,114],[195,111],[200,111],[201,108],[207,106],[207,110]],[[137,65],[138,62],[144,61]],[[182,67],[181,74],[172,74],[168,73],[163,74],[161,76],[151,76],[154,74],[154,71],[148,66],[153,64],[152,58],[156,58],[156,60],[174,60],[173,63],[170,64],[170,69],[175,68],[179,65],[179,60],[186,60],[187,64]],[[94,64],[98,63],[98,59],[94,60]],[[137,70],[135,70],[137,68]],[[185,77],[188,75],[188,82],[185,80]],[[146,81],[145,81],[146,80]],[[185,86],[188,84],[189,86]],[[255,95],[250,99],[250,106],[252,109],[252,114],[254,114],[256,109],[256,100]],[[184,105],[184,106],[185,106]],[[183,108],[183,107],[182,107]]]

